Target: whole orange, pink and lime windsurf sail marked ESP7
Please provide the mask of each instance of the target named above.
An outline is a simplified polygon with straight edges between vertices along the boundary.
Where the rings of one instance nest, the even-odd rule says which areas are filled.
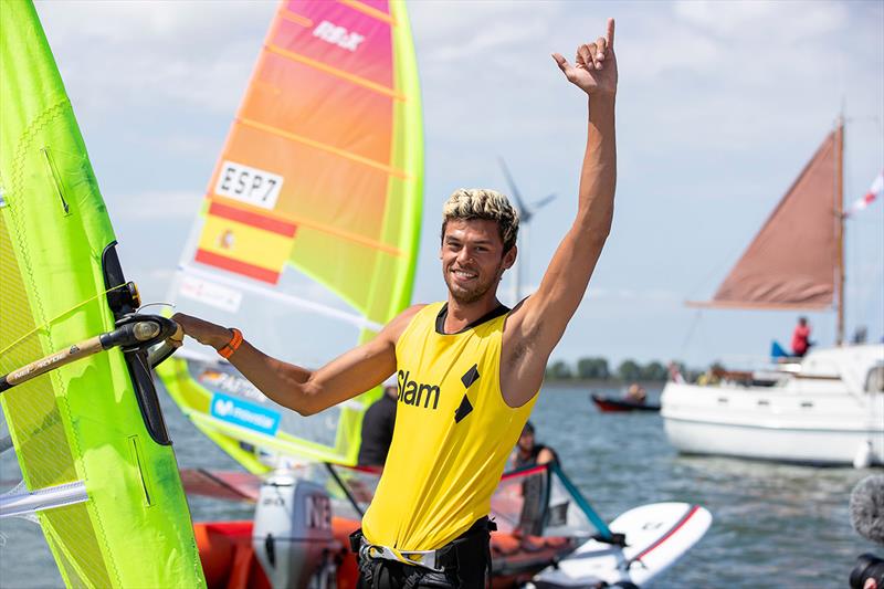
[[[423,134],[400,0],[285,0],[209,182],[172,297],[315,368],[411,299]],[[352,464],[368,391],[303,418],[232,366],[185,348],[159,367],[209,438],[252,472],[286,457]]]

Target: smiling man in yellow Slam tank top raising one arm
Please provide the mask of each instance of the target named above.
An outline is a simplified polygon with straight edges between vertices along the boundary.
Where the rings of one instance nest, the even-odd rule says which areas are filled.
[[[589,96],[577,217],[537,292],[497,301],[516,260],[518,217],[503,194],[457,190],[444,207],[445,304],[415,305],[378,336],[307,370],[271,358],[239,330],[177,315],[264,395],[308,416],[396,374],[399,401],[387,464],[362,518],[360,587],[483,587],[487,515],[509,451],[537,398],[549,355],[583,297],[611,228],[617,180],[613,20],[580,45],[576,64],[554,54]]]

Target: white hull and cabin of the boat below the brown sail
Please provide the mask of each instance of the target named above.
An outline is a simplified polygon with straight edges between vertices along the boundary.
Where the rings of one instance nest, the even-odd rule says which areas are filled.
[[[884,392],[872,375],[882,362],[884,346],[854,346],[815,351],[769,387],[669,382],[666,435],[688,454],[884,464]]]

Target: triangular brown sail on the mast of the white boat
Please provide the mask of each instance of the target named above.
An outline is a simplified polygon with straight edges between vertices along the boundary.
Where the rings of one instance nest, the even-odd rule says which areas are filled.
[[[832,305],[841,251],[844,129],[829,134],[708,303],[694,306],[819,309]]]

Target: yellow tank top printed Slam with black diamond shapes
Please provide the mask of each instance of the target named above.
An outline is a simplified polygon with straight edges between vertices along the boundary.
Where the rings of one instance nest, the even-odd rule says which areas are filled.
[[[436,332],[442,303],[412,318],[396,344],[396,427],[362,518],[372,544],[433,550],[488,515],[507,457],[537,395],[514,409],[501,393],[506,315],[457,334]]]

